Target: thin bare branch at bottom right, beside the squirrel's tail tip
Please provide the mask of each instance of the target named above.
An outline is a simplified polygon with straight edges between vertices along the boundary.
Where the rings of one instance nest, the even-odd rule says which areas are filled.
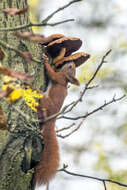
[[[97,180],[97,181],[101,181],[104,185],[104,188],[106,190],[106,182],[109,182],[109,183],[114,183],[116,185],[119,185],[119,186],[123,186],[123,187],[127,187],[127,184],[124,184],[124,183],[120,183],[118,181],[115,181],[115,180],[111,180],[111,179],[104,179],[104,178],[99,178],[99,177],[92,177],[92,176],[88,176],[88,175],[82,175],[82,174],[77,174],[77,173],[73,173],[73,172],[70,172],[68,170],[66,170],[66,168],[68,167],[68,165],[63,165],[63,168],[58,170],[58,171],[62,171],[62,172],[65,172],[69,175],[72,175],[72,176],[78,176],[78,177],[83,177],[83,178],[89,178],[89,179],[94,179],[94,180]]]

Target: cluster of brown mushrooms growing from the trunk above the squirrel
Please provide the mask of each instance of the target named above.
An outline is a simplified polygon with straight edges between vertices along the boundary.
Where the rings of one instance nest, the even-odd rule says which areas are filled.
[[[56,70],[59,70],[70,61],[73,61],[75,66],[78,67],[90,57],[88,53],[84,52],[73,54],[82,45],[82,41],[79,38],[53,34],[47,37],[43,45],[46,46],[46,53],[52,58],[52,63]]]

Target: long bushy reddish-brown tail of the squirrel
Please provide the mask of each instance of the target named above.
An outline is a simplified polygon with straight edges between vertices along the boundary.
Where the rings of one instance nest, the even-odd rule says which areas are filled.
[[[44,150],[42,152],[42,160],[36,167],[35,175],[38,185],[48,183],[55,175],[59,166],[59,151],[54,124],[53,121],[49,121],[43,126]]]

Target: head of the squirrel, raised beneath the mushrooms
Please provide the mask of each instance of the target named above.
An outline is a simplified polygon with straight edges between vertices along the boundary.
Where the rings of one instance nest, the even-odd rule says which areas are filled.
[[[66,63],[61,69],[61,72],[65,73],[67,82],[74,85],[80,85],[79,81],[75,78],[76,67],[73,61]]]

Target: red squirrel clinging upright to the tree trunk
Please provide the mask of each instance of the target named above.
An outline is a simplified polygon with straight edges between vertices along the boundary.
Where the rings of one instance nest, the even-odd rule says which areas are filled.
[[[48,90],[48,94],[44,94],[44,97],[40,99],[37,113],[39,120],[42,120],[42,122],[47,117],[60,111],[67,96],[68,82],[79,85],[78,80],[75,78],[76,69],[74,62],[67,63],[59,72],[55,72],[49,65],[46,55],[43,57],[47,74],[51,80],[51,87]],[[44,139],[44,149],[42,160],[35,167],[35,183],[37,186],[47,184],[56,174],[59,166],[59,148],[55,132],[55,122],[56,117],[40,126]]]

